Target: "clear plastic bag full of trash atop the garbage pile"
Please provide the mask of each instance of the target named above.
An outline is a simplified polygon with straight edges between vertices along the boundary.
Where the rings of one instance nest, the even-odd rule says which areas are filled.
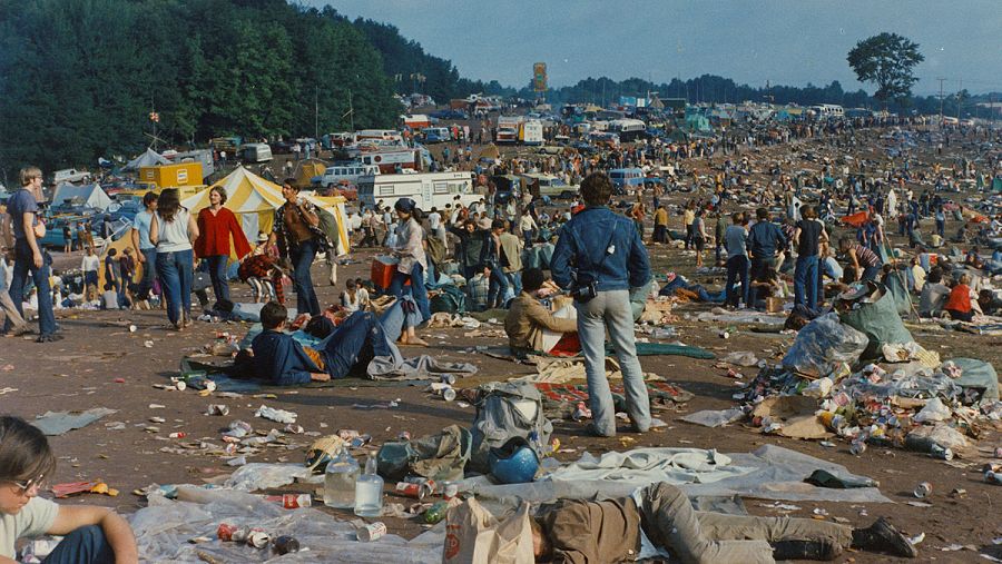
[[[838,363],[855,363],[867,343],[866,335],[841,323],[835,314],[824,315],[797,333],[783,367],[813,377],[827,376]]]

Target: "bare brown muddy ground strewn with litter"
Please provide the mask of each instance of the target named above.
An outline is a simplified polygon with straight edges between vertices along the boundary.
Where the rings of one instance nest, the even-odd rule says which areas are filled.
[[[765,155],[759,155],[765,158]],[[719,158],[718,158],[719,160]],[[916,190],[916,194],[918,191]],[[678,201],[687,195],[672,197]],[[672,229],[680,228],[680,218],[672,217]],[[708,225],[708,230],[711,226]],[[341,268],[342,279],[367,278],[373,249],[356,250],[352,258],[355,264]],[[79,258],[57,256],[57,264],[75,266]],[[695,258],[680,250],[656,246],[651,249],[658,271],[676,269],[694,277]],[[695,276],[697,281],[719,284],[711,277]],[[328,286],[321,265],[314,267],[314,280],[322,303],[334,303],[342,289]],[[248,300],[246,286],[233,286],[237,299]],[[294,299],[294,298],[293,298]],[[778,358],[793,342],[793,336],[770,336],[753,334],[739,327],[731,338],[724,340],[718,332],[724,325],[687,320],[685,314],[706,310],[703,305],[686,305],[675,310],[678,338],[689,345],[714,350],[723,356],[730,350],[752,350],[762,358]],[[219,399],[202,397],[193,390],[171,392],[157,389],[156,384],[169,382],[176,376],[183,355],[197,352],[213,342],[216,332],[230,332],[240,336],[246,332],[242,324],[196,323],[183,333],[165,328],[163,311],[62,311],[59,314],[61,334],[66,339],[55,344],[39,345],[28,338],[0,338],[0,366],[2,386],[16,388],[0,395],[0,410],[33,418],[46,410],[73,410],[104,406],[118,409],[86,428],[71,431],[62,436],[51,437],[51,444],[59,457],[59,466],[51,483],[102,478],[111,487],[118,488],[118,497],[86,494],[65,503],[92,503],[116,507],[130,513],[145,505],[145,498],[131,492],[151,483],[200,483],[217,478],[233,471],[223,458],[216,456],[176,454],[161,448],[177,447],[186,441],[206,438],[219,444],[219,433],[233,419],[250,422],[256,428],[281,428],[254,417],[261,405],[289,409],[298,414],[298,423],[306,431],[323,434],[338,428],[354,428],[373,436],[373,445],[395,438],[402,431],[413,436],[438,432],[442,427],[459,423],[469,425],[473,418],[472,407],[462,407],[458,402],[445,403],[423,390],[411,386],[372,387],[365,382],[357,386],[324,389],[283,389],[275,392],[276,398],[243,397]],[[135,324],[137,330],[127,328]],[[462,360],[475,364],[479,373],[462,379],[458,387],[473,387],[483,382],[504,379],[529,374],[532,367],[495,359],[471,353],[478,345],[503,345],[503,329],[492,326],[499,336],[465,337],[464,329],[425,329],[422,333],[432,347],[430,349],[406,348],[409,352],[429,353],[442,360]],[[982,358],[999,366],[1002,338],[947,333],[935,325],[911,326],[916,340],[927,348],[939,350],[941,356],[970,356]],[[147,347],[146,342],[153,342]],[[715,368],[717,360],[697,360],[674,356],[646,356],[640,358],[645,372],[652,372],[682,388],[696,394],[695,398],[679,407],[661,409],[655,415],[668,426],[645,435],[620,433],[619,437],[598,439],[582,433],[583,424],[559,422],[554,436],[562,447],[576,448],[573,453],[561,453],[559,458],[577,458],[581,452],[601,453],[610,449],[623,451],[635,446],[688,446],[716,448],[720,452],[748,452],[763,444],[782,445],[812,456],[845,465],[849,471],[871,476],[881,483],[881,491],[892,504],[839,504],[798,503],[799,509],[790,516],[811,517],[813,509],[824,508],[827,518],[846,518],[853,524],[868,525],[877,515],[886,515],[894,525],[908,535],[925,533],[920,545],[920,560],[937,562],[971,562],[979,560],[975,552],[1002,557],[1002,545],[992,540],[1002,537],[1002,522],[998,518],[1002,509],[1002,488],[983,482],[979,468],[983,461],[953,461],[944,463],[926,456],[888,448],[871,447],[862,456],[853,456],[848,445],[836,441],[836,446],[826,448],[817,442],[804,442],[777,436],[767,436],[758,429],[741,425],[709,429],[686,424],[678,418],[700,409],[719,409],[734,405],[731,395],[736,383],[726,376],[726,369]],[[754,370],[754,368],[753,368]],[[745,369],[746,374],[748,369]],[[124,382],[116,382],[121,379]],[[360,408],[358,405],[385,404],[397,400],[393,408]],[[223,403],[229,406],[227,417],[205,415],[206,406]],[[164,407],[155,408],[151,404]],[[151,433],[146,427],[154,425],[149,417],[163,417],[167,422],[157,425],[159,432]],[[125,428],[111,431],[106,424],[125,423]],[[171,432],[184,431],[185,439],[170,439]],[[297,444],[289,449],[269,448],[252,462],[296,462],[304,457],[310,437],[293,436]],[[1002,444],[996,429],[988,429],[983,445]],[[931,507],[914,507],[906,503],[915,501],[913,489],[920,482],[930,482],[933,494],[925,499]],[[951,497],[954,488],[966,489],[964,497]],[[303,491],[289,488],[289,491]],[[405,499],[387,496],[387,501]],[[779,515],[778,509],[763,507],[759,501],[746,499],[749,512],[757,515]],[[324,511],[332,511],[324,508]],[[337,513],[337,512],[334,512]],[[347,513],[343,513],[345,518]],[[421,526],[404,520],[386,520],[391,533],[412,537],[421,532]],[[959,552],[943,552],[950,545],[962,545]],[[866,553],[847,553],[839,562],[887,562],[888,557]]]

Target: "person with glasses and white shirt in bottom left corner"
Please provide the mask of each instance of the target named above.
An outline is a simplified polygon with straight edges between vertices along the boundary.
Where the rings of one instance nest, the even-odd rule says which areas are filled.
[[[95,505],[60,506],[38,497],[56,469],[56,456],[38,427],[0,416],[0,563],[13,563],[19,538],[62,536],[49,564],[139,562],[129,524]]]

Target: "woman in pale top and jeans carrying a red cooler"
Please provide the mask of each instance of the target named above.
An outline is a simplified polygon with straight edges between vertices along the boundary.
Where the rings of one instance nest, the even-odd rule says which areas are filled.
[[[390,281],[390,294],[403,296],[404,284],[411,281],[411,294],[418,304],[418,310],[424,320],[431,319],[431,307],[428,303],[428,289],[424,287],[424,271],[428,269],[428,256],[424,253],[424,229],[419,219],[421,210],[411,198],[401,198],[393,205],[399,218],[396,240],[390,247],[394,257],[400,259],[393,279]]]

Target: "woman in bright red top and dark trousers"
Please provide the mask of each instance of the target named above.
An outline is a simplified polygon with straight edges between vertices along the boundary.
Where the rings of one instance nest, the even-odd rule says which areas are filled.
[[[250,244],[239,221],[233,211],[223,207],[224,204],[226,190],[219,186],[209,188],[209,207],[198,212],[198,238],[195,239],[195,256],[208,261],[217,306],[223,300],[229,301],[226,266],[234,247],[238,258],[250,254]]]

